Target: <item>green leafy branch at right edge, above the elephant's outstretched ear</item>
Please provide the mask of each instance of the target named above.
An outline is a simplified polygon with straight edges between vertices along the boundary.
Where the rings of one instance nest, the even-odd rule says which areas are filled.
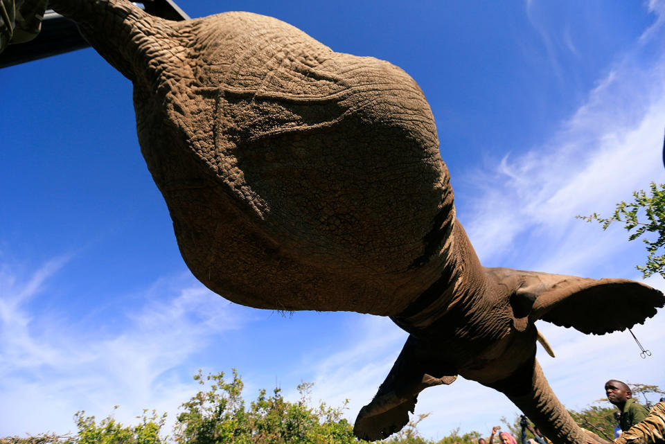
[[[619,202],[611,217],[601,217],[598,213],[576,217],[587,222],[596,220],[603,225],[603,230],[608,229],[612,222],[621,222],[629,233],[635,229],[628,240],[635,240],[647,233],[657,233],[656,240],[646,237],[642,239],[648,252],[646,263],[635,268],[642,272],[644,278],[652,274],[660,274],[665,278],[665,254],[659,254],[659,250],[665,245],[665,184],[651,182],[648,193],[638,190],[634,191],[632,196],[632,202]]]

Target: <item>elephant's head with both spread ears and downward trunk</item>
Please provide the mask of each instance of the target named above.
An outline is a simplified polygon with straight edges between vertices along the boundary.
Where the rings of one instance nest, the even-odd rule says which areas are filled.
[[[655,307],[663,306],[663,294],[626,279],[506,268],[474,275],[475,292],[453,290],[445,303],[423,300],[392,317],[409,339],[372,402],[358,414],[356,434],[371,440],[389,436],[408,423],[420,391],[451,384],[461,375],[504,393],[553,442],[585,442],[535,359],[535,321],[602,335],[653,316]]]

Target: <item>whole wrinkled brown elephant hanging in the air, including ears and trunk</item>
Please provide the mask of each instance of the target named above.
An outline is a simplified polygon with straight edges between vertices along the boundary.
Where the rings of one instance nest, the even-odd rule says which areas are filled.
[[[583,443],[535,360],[534,322],[623,330],[663,296],[481,267],[404,71],[245,12],[170,22],[125,0],[51,7],[134,84],[143,156],[202,283],[243,305],[378,314],[411,333],[357,436],[395,432],[419,391],[461,375],[505,393],[554,443]]]

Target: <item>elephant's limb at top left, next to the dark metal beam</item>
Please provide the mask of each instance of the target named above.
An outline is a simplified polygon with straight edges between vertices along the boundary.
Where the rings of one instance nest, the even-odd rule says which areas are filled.
[[[159,69],[159,57],[150,53],[165,53],[166,60],[168,50],[176,46],[168,21],[127,0],[50,0],[49,7],[75,21],[89,44],[132,82],[154,82],[156,76],[150,73]],[[152,64],[145,66],[148,60]]]

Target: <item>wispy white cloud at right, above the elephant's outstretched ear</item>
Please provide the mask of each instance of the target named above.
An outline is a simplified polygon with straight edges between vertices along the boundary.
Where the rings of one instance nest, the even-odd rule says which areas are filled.
[[[574,261],[596,248],[607,253],[608,244],[625,245],[608,242],[605,233],[589,231],[574,217],[610,213],[632,190],[662,177],[662,62],[660,57],[641,71],[626,58],[551,140],[526,154],[504,157],[493,171],[470,172],[481,177],[475,183],[482,186],[471,202],[459,205],[481,259],[497,265],[494,261],[513,250],[518,236],[538,230],[547,233],[541,240],[549,242],[547,258],[542,255],[538,262],[548,267],[556,265],[552,258]],[[580,238],[587,238],[586,244],[578,243]],[[571,239],[576,240],[567,245],[571,249],[563,250]]]

